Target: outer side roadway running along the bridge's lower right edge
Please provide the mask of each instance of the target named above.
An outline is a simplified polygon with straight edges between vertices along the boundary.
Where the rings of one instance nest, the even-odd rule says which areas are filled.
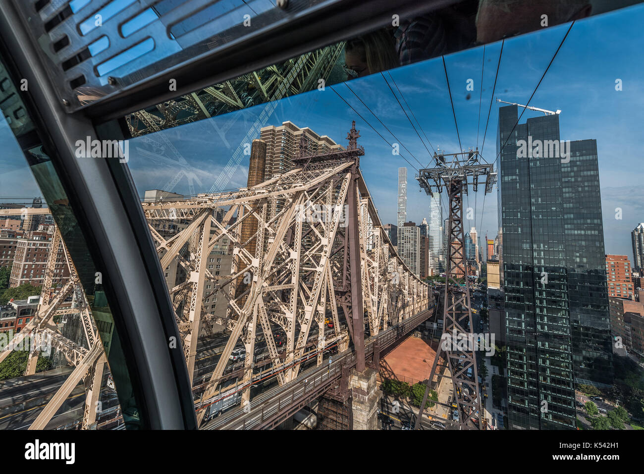
[[[380,352],[395,345],[402,337],[409,334],[418,325],[429,319],[434,307],[423,310],[411,318],[371,337],[365,346],[365,358],[374,353],[376,341]],[[234,408],[223,413],[204,426],[205,430],[261,430],[274,428],[294,413],[301,410],[311,400],[326,392],[342,376],[342,368],[355,366],[355,354],[346,350],[332,356],[332,363],[310,368],[299,375],[296,381],[278,386],[252,399],[250,408]]]

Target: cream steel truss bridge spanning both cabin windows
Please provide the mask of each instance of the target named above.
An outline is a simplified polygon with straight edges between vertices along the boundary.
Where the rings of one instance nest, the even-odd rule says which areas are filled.
[[[214,323],[230,333],[207,382],[193,390],[200,426],[271,428],[321,393],[346,400],[351,370],[363,372],[368,357],[377,367],[381,351],[430,317],[430,287],[404,265],[383,229],[359,167],[365,150],[357,146],[358,137],[354,122],[346,149],[312,155],[303,142],[295,169],[252,187],[142,203],[162,269],[174,265],[185,275],[168,287],[182,339],[176,346],[184,351],[191,382],[199,337],[211,334]],[[319,209],[332,211],[316,214]],[[222,210],[223,218],[217,220]],[[21,210],[0,210],[10,213]],[[182,230],[166,238],[156,230],[158,222],[176,222]],[[223,238],[231,244],[232,264],[227,275],[219,276],[207,267],[214,245]],[[37,314],[12,343],[27,334],[48,334],[76,368],[32,429],[46,426],[81,379],[87,393],[82,427],[91,428],[96,419],[91,407],[98,401],[106,363],[66,250],[70,280],[55,294],[51,291],[59,245],[64,247],[55,229]],[[207,284],[218,285],[217,296],[227,300],[225,316],[204,307],[204,299],[213,295]],[[71,305],[64,301],[69,294],[74,295]],[[80,315],[83,345],[62,336],[53,325],[57,314]],[[325,331],[327,319],[332,321],[330,332]],[[276,331],[285,335],[281,347]],[[241,392],[240,407],[209,422],[207,407],[231,392],[223,382],[232,351],[243,345],[245,354],[256,354],[260,335],[272,363],[258,371],[254,357],[245,357],[235,386]],[[337,355],[325,359],[331,348]],[[9,352],[2,352],[0,361]],[[36,356],[30,354],[27,374],[35,371]],[[251,399],[252,385],[267,377],[275,386]]]

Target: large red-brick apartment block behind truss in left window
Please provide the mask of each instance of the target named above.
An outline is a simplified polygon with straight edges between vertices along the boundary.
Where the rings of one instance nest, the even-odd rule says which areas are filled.
[[[53,226],[39,225],[39,230],[24,232],[15,244],[14,263],[9,277],[9,286],[19,287],[24,283],[38,286],[43,284],[49,249],[52,245]],[[55,269],[53,270],[53,287],[64,284],[69,278],[65,253],[62,245],[58,248]]]

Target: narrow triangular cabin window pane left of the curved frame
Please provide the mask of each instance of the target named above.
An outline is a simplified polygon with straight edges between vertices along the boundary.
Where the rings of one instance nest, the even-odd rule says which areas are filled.
[[[137,428],[118,334],[73,202],[43,147],[21,149],[33,142],[33,124],[0,71],[0,427]]]

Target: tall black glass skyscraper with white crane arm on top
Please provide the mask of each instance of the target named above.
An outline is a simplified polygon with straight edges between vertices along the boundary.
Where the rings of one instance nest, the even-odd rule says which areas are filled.
[[[499,109],[497,152],[517,119],[517,106]],[[574,429],[574,383],[612,383],[597,144],[568,144],[559,115],[544,115],[517,124],[500,153],[510,429]]]

